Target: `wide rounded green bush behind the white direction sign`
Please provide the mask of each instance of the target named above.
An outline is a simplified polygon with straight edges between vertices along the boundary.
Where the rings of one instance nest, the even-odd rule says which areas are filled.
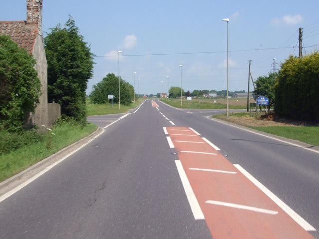
[[[133,94],[133,86],[120,77],[120,103],[130,105],[133,101]],[[114,73],[107,74],[102,81],[93,85],[90,94],[91,102],[94,104],[106,104],[108,95],[115,96],[114,103],[119,102],[119,78]]]

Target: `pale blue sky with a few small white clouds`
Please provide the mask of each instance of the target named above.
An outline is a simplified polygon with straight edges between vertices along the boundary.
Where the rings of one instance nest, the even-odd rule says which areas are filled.
[[[26,0],[1,1],[0,20],[26,20]],[[318,50],[318,9],[318,0],[43,0],[42,29],[74,18],[96,56],[87,94],[108,73],[156,94],[226,90],[228,24],[228,89],[247,91],[249,61],[254,80],[279,69],[298,56],[300,27],[303,54]]]

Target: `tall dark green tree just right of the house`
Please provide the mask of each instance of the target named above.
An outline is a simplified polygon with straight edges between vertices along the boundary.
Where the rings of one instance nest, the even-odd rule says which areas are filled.
[[[48,61],[48,101],[61,105],[63,117],[86,123],[86,88],[93,75],[93,54],[71,16],[44,38]]]

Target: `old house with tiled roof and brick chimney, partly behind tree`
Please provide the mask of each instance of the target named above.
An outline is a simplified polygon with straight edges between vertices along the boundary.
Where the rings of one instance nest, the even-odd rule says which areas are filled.
[[[25,48],[36,60],[34,68],[41,81],[42,94],[39,97],[35,113],[31,117],[32,125],[50,125],[52,123],[52,120],[48,120],[47,61],[42,35],[42,4],[43,0],[26,0],[26,21],[0,21],[0,34],[11,36],[13,41]]]

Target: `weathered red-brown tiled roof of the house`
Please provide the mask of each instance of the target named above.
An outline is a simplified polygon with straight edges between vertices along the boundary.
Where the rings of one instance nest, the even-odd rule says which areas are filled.
[[[26,21],[0,21],[0,34],[11,36],[20,47],[32,54],[38,27]]]

